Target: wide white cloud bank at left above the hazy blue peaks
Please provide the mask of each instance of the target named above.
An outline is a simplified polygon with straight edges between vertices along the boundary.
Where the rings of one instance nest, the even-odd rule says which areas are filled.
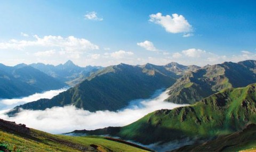
[[[52,57],[54,60],[61,60],[57,58],[59,57],[57,55],[63,55],[67,59],[79,59],[82,54],[88,51],[99,50],[99,46],[91,43],[87,39],[76,38],[74,36],[62,37],[48,35],[39,37],[34,35],[30,40],[11,39],[10,41],[2,42],[0,43],[0,49],[26,50],[26,52],[29,50],[29,54],[34,54],[38,57],[38,62],[38,60],[42,61],[40,57]],[[38,51],[35,52],[35,50]],[[29,54],[26,53],[26,55]]]

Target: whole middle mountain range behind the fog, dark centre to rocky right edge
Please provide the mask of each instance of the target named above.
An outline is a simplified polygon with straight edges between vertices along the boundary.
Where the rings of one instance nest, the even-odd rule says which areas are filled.
[[[149,98],[157,89],[169,87],[167,102],[195,103],[209,95],[232,87],[256,82],[256,62],[224,62],[205,67],[183,66],[171,62],[165,66],[120,64],[92,73],[82,83],[53,99],[41,99],[15,107],[44,110],[74,105],[85,110],[118,110],[134,99]]]

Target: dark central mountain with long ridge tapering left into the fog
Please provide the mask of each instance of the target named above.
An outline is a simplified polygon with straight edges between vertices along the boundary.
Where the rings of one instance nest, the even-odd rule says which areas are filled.
[[[85,110],[118,110],[134,99],[149,98],[156,90],[171,86],[174,74],[158,66],[109,66],[93,73],[82,83],[52,99],[41,99],[15,107],[9,114],[23,109],[44,110],[54,106],[75,105]],[[176,76],[175,76],[176,77]]]

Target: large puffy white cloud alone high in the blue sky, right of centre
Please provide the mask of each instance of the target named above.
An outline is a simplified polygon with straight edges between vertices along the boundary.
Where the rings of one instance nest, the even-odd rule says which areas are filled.
[[[162,13],[156,13],[149,15],[149,17],[150,22],[161,25],[169,33],[186,33],[186,36],[187,33],[193,32],[192,26],[182,15],[172,14],[172,16],[163,16]]]

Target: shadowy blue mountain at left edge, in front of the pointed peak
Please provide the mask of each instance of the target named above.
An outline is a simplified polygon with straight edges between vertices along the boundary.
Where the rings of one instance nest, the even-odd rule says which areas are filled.
[[[65,83],[25,64],[14,67],[0,64],[0,98],[25,97],[65,86]]]

